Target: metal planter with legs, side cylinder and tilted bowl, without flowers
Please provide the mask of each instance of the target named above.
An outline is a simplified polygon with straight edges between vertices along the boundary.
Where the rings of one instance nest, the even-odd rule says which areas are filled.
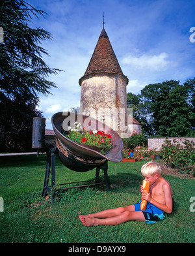
[[[62,135],[62,123],[66,118],[69,118],[69,116],[64,116],[62,112],[53,115],[51,121],[53,129],[55,131],[55,136],[50,136],[48,139],[45,138],[45,118],[33,118],[32,148],[36,148],[38,152],[47,152],[42,197],[46,197],[47,193],[51,193],[52,200],[55,200],[56,191],[60,189],[70,189],[73,187],[87,187],[91,185],[105,184],[107,189],[110,189],[110,182],[108,176],[108,161],[113,161],[115,163],[119,163],[120,161],[122,161],[122,139],[117,133],[110,129],[110,127],[107,127],[107,125],[103,126],[103,123],[100,122],[101,127],[105,127],[104,131],[109,131],[109,134],[112,136],[113,144],[113,148],[106,155],[102,155],[96,150],[85,148],[85,146],[81,146],[79,144],[76,144],[75,142],[72,142],[71,140],[68,140],[66,136]],[[77,114],[75,118],[80,118],[83,121],[86,121],[88,119],[88,116]],[[90,123],[93,126],[92,128],[94,128],[94,130],[97,130],[97,125],[99,125],[99,121],[91,118]],[[61,185],[75,183],[79,184],[81,182],[92,181],[69,182],[56,185],[56,155],[59,156],[59,159],[64,166],[76,172],[86,172],[88,170],[96,168],[96,183],[86,185],[73,185],[64,188],[61,188]],[[97,182],[100,170],[103,170],[104,172],[103,182]],[[50,174],[51,186],[49,187]]]

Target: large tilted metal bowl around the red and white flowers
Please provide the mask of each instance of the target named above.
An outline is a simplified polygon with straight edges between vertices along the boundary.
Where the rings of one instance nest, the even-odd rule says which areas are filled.
[[[73,127],[73,124],[76,121],[81,123],[81,126],[85,127],[88,131],[104,131],[105,133],[111,135],[110,142],[112,142],[112,149],[103,154],[94,148],[86,146],[85,144],[77,144],[73,140],[70,140],[64,136],[64,131],[68,133],[68,127]],[[122,161],[122,139],[118,133],[116,133],[108,125],[105,125],[105,123],[90,116],[76,114],[73,112],[56,113],[52,116],[51,123],[53,125],[55,135],[57,136],[57,148],[59,149],[59,157],[62,163],[64,161],[64,165],[67,166],[66,162],[71,160],[71,158],[71,162],[74,162],[75,160],[80,162],[81,160],[82,163],[85,163],[85,167],[89,165],[89,169],[92,169],[97,165],[101,165],[106,160],[115,163]],[[75,164],[75,167],[72,167],[72,164],[70,164],[69,168],[72,170],[77,170],[77,164]]]

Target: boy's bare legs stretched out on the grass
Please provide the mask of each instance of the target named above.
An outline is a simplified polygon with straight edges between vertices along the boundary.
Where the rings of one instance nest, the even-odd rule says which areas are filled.
[[[126,221],[135,220],[135,221],[145,221],[144,214],[142,211],[131,212],[125,211],[122,214],[114,217],[107,217],[106,219],[99,219],[95,217],[79,216],[81,222],[86,227],[98,226],[98,225],[118,225]]]

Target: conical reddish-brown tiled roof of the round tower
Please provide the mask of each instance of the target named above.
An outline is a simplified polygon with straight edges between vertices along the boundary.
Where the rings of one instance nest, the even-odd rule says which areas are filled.
[[[83,78],[90,74],[121,74],[124,76],[104,28],[99,35],[98,43],[85,74],[79,80],[80,86]],[[125,78],[127,77],[125,76]]]

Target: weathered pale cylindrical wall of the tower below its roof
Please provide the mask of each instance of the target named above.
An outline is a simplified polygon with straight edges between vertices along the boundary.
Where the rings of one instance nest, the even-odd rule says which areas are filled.
[[[126,86],[120,75],[86,76],[81,84],[81,114],[106,123],[119,135],[127,132]]]

